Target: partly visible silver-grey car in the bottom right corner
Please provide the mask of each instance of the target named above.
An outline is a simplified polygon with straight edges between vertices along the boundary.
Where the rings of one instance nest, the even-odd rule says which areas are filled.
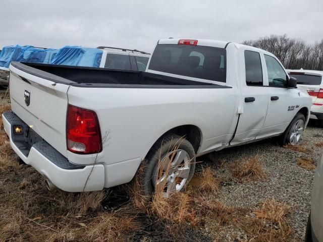
[[[323,241],[323,152],[319,158],[314,176],[312,205],[305,241]]]

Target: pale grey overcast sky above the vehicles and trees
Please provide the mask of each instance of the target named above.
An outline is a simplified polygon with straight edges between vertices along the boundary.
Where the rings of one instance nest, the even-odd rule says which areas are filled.
[[[271,34],[323,39],[323,1],[7,0],[0,47],[98,45],[152,52],[158,39],[242,42]]]

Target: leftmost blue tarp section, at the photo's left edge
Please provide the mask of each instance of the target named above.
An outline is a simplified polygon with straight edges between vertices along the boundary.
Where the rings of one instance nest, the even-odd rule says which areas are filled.
[[[10,45],[3,47],[0,53],[0,67],[9,68],[10,63],[19,61],[24,52],[30,47],[30,45]]]

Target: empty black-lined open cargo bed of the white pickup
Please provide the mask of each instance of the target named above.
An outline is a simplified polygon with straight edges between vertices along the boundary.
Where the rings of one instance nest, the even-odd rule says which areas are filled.
[[[230,88],[213,83],[196,82],[139,71],[18,62],[13,62],[11,65],[28,74],[77,87],[154,88],[156,86],[156,88],[160,88],[161,86],[172,85],[180,88]]]

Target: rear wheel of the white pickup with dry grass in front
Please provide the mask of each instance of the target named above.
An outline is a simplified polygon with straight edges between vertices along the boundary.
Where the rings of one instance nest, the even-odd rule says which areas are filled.
[[[172,157],[172,155],[173,159],[167,158]],[[180,161],[183,157],[183,162],[177,166],[176,161]],[[170,161],[172,161],[171,164],[174,163],[175,165],[170,166]],[[159,190],[160,186],[158,189],[163,193],[163,197],[169,197],[171,193],[182,191],[191,180],[195,170],[195,151],[191,143],[185,138],[175,134],[168,134],[153,145],[142,165],[141,171],[139,170],[140,174],[138,174],[141,193],[144,196],[151,197],[158,184],[164,185],[162,183],[169,180],[165,189]],[[164,167],[164,169],[160,167]],[[160,183],[158,183],[157,179],[159,170],[163,170],[161,171],[161,179],[165,177],[165,180],[160,181]]]

